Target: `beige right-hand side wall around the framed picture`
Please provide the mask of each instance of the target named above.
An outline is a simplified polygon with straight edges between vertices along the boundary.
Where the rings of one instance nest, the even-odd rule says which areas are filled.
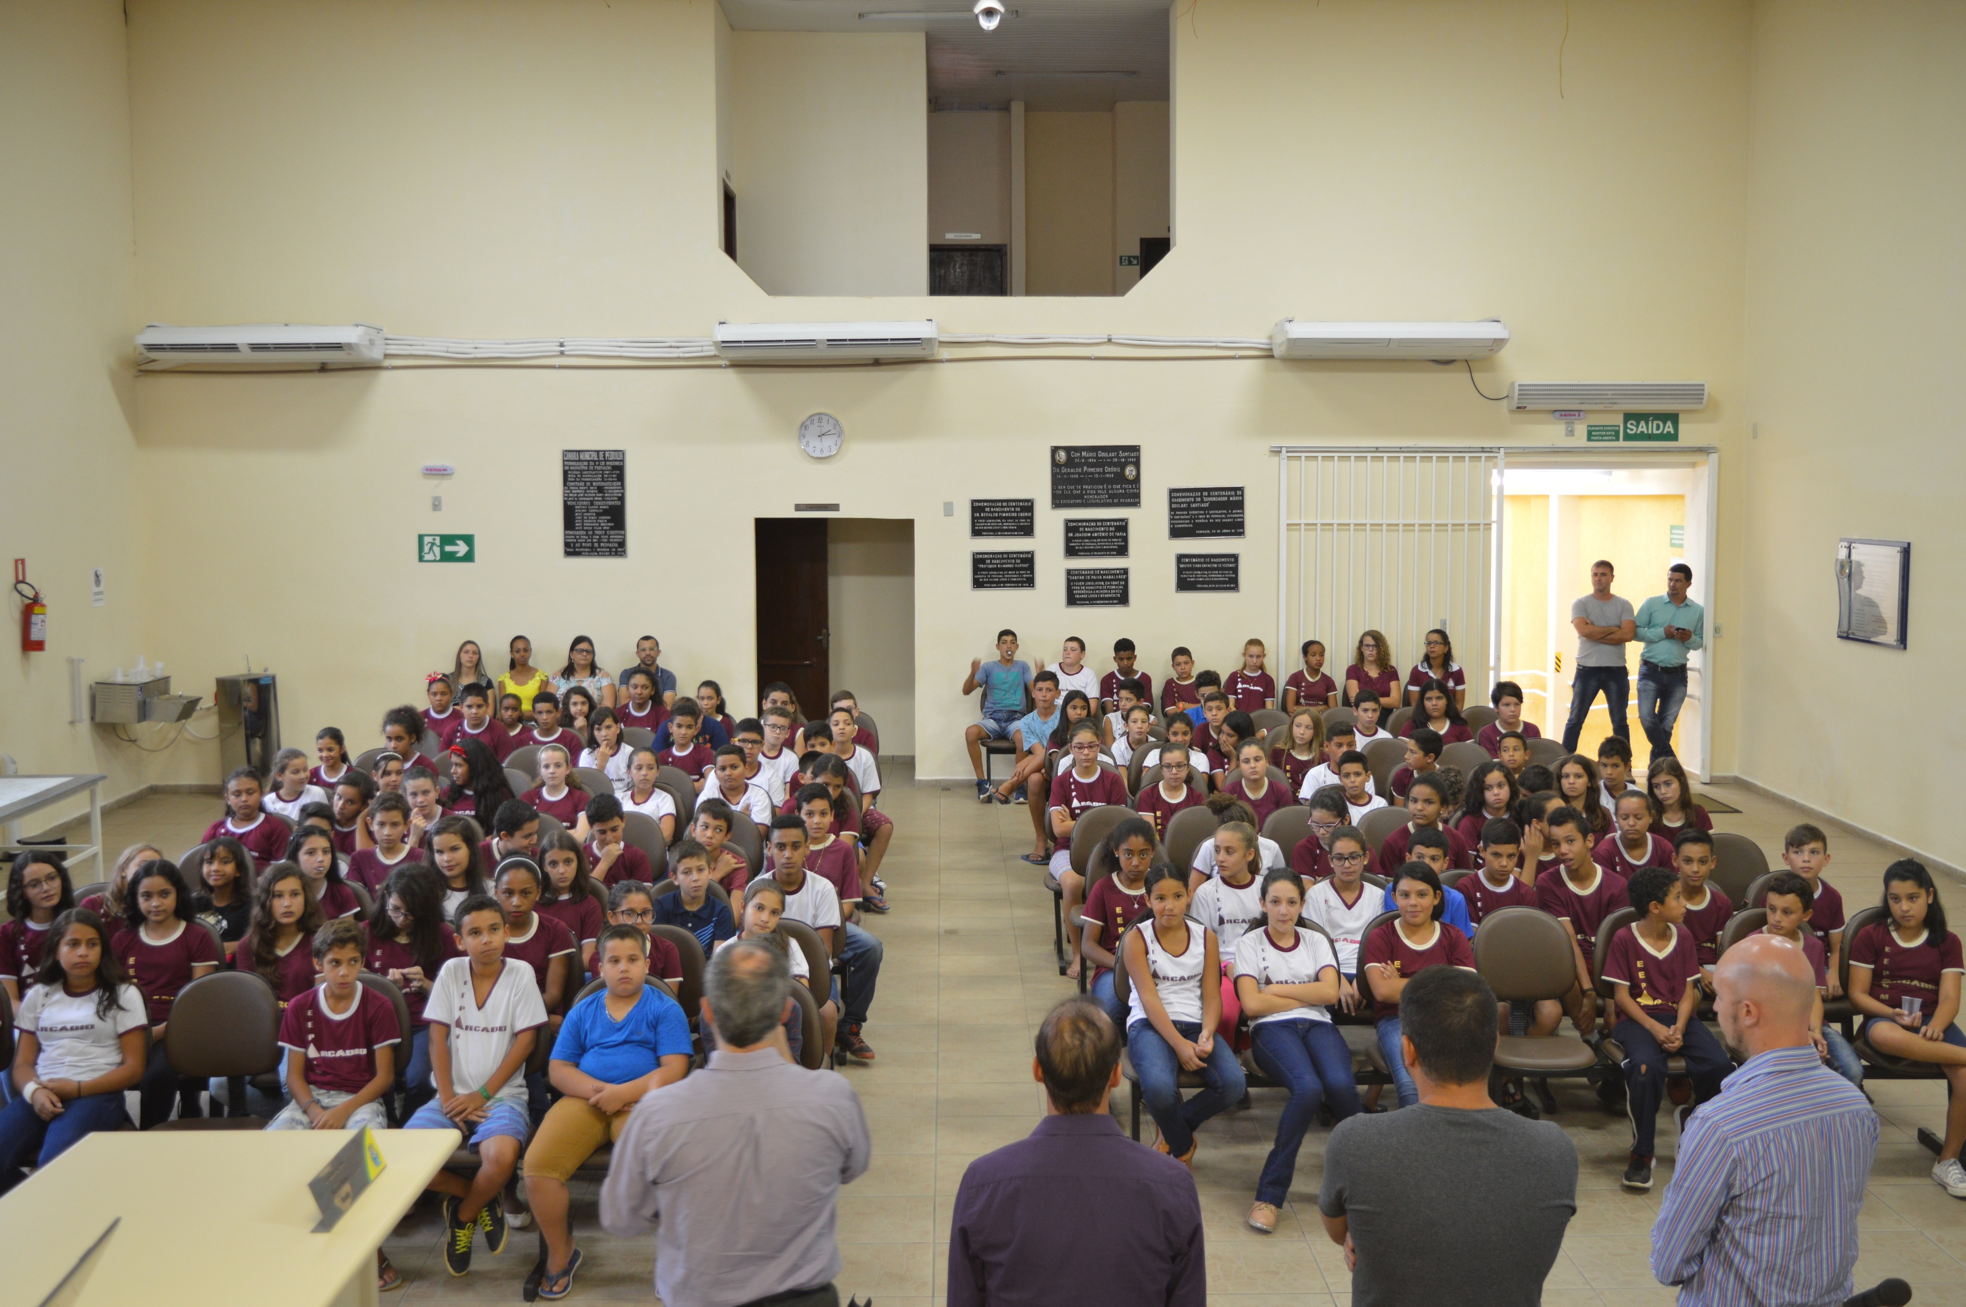
[[[1740,770],[1958,867],[1966,6],[1762,4],[1754,49]],[[1913,542],[1905,653],[1834,639],[1840,537]]]

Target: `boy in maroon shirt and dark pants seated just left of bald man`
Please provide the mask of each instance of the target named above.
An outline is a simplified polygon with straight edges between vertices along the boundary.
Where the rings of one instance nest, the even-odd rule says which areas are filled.
[[[1695,1016],[1701,1006],[1699,949],[1681,926],[1687,904],[1679,877],[1642,867],[1626,886],[1640,920],[1618,932],[1604,955],[1604,979],[1616,1010],[1610,1038],[1624,1046],[1624,1091],[1632,1114],[1632,1162],[1626,1189],[1651,1189],[1651,1136],[1665,1101],[1665,1059],[1687,1059],[1693,1103],[1677,1108],[1679,1130],[1701,1103],[1720,1093],[1734,1061]]]

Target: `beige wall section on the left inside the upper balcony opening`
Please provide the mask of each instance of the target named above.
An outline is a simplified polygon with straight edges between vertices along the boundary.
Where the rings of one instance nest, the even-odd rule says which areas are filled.
[[[733,31],[737,261],[771,295],[926,295],[918,31]]]

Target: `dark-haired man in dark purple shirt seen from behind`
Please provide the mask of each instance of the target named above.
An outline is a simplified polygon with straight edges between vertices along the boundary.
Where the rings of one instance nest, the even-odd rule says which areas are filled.
[[[1128,1140],[1109,1112],[1119,1030],[1099,1004],[1068,998],[1044,1018],[1036,1046],[1044,1120],[963,1171],[950,1307],[1201,1307],[1209,1287],[1195,1177]]]

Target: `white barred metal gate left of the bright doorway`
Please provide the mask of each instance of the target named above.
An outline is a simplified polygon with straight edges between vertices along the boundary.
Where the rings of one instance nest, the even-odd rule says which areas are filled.
[[[1359,635],[1376,629],[1400,676],[1447,631],[1469,704],[1486,702],[1500,647],[1498,448],[1272,446],[1276,485],[1276,654],[1301,666],[1305,639],[1325,643],[1343,690]]]

